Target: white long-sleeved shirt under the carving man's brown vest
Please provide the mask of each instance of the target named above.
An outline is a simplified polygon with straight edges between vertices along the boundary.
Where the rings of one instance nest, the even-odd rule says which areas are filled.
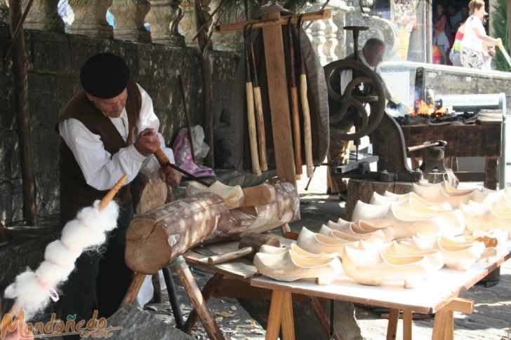
[[[142,132],[146,128],[158,131],[159,119],[154,114],[152,99],[140,85],[137,84],[137,86],[142,97],[137,131]],[[122,110],[121,116],[110,118],[110,121],[126,141],[129,134],[126,107]],[[77,119],[66,119],[59,123],[58,128],[62,139],[74,154],[87,184],[95,189],[107,190],[112,188],[124,174],[128,175],[126,183],[133,181],[138,172],[153,177],[159,169],[159,163],[154,155],[143,156],[135,149],[134,144],[119,149],[116,154],[110,154],[105,150],[105,145],[100,136],[93,134]],[[138,135],[134,136],[133,142],[135,142],[136,137]],[[171,163],[174,163],[172,149],[165,148],[164,137],[160,133],[158,133],[158,137],[161,149],[164,150]]]

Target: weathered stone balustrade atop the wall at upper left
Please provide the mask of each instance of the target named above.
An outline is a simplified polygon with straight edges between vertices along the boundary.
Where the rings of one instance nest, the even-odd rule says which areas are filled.
[[[22,0],[25,8],[29,0]],[[183,20],[182,0],[68,0],[66,25],[58,11],[59,0],[34,0],[23,27],[39,31],[66,32],[102,39],[119,39],[140,43],[163,43],[185,46],[185,36],[180,33]],[[203,15],[209,15],[204,0]],[[187,4],[187,38],[194,35],[193,1]],[[107,10],[114,15],[115,25],[107,22]],[[69,20],[69,18],[73,18]],[[8,7],[0,1],[0,25],[8,25]],[[150,25],[150,30],[145,25]],[[191,42],[191,37],[190,37]]]

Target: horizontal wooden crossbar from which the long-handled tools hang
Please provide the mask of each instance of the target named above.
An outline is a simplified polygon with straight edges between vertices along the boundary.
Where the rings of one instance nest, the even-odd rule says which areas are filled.
[[[261,27],[279,27],[280,25],[287,25],[289,22],[289,19],[291,18],[291,22],[293,24],[296,24],[298,21],[299,15],[284,15],[279,18],[265,18],[263,16],[263,20],[246,20],[241,22],[234,22],[232,24],[226,24],[226,25],[216,25],[214,28],[215,33],[228,33],[228,32],[234,32],[234,31],[241,31],[246,25],[251,25],[251,27],[254,28],[261,28]],[[302,21],[314,21],[314,20],[327,20],[332,17],[332,11],[329,9],[324,9],[317,12],[310,12],[310,13],[303,13]]]

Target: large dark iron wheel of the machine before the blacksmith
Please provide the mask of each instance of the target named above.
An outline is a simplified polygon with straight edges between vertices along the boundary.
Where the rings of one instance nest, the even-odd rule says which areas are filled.
[[[336,60],[324,66],[328,98],[333,102],[340,103],[340,108],[330,114],[330,135],[338,140],[358,140],[369,135],[376,129],[385,113],[385,94],[378,75],[369,67],[355,60]],[[354,78],[347,84],[343,93],[334,90],[335,82],[340,84],[340,74],[345,70],[352,70]],[[352,91],[359,84],[364,83],[364,88],[369,90],[361,96],[352,95]],[[336,87],[336,86],[334,86]],[[369,104],[370,114],[365,104]],[[345,133],[332,127],[332,124],[341,121],[347,114],[348,109],[353,108],[359,117],[359,124],[354,133]]]

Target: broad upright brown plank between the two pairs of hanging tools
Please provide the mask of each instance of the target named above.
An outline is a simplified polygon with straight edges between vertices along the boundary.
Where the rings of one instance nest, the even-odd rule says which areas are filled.
[[[263,15],[263,20],[279,19],[279,12]],[[291,135],[291,116],[281,26],[263,27],[263,41],[277,176],[296,186],[293,144],[291,143],[293,136]]]

